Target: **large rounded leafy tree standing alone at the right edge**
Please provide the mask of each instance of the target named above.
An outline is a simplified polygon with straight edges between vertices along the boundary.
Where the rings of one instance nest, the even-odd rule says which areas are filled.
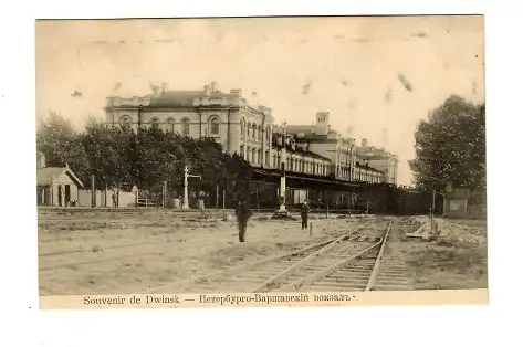
[[[419,188],[485,187],[484,104],[452,95],[419,124],[415,138],[416,158],[409,165]]]

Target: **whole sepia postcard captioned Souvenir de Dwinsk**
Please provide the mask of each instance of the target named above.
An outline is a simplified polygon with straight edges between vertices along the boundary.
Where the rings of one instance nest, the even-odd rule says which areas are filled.
[[[40,307],[487,304],[483,31],[36,21]]]

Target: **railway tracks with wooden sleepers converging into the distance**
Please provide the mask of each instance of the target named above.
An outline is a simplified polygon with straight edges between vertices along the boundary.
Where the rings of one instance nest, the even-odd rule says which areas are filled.
[[[385,224],[385,225],[384,225]],[[405,264],[390,257],[393,221],[369,221],[325,242],[293,253],[158,287],[177,292],[328,292],[407,290]]]

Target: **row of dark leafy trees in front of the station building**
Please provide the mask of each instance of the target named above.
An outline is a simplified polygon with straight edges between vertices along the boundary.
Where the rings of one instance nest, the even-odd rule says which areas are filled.
[[[229,192],[229,199],[247,197],[252,176],[251,166],[237,155],[223,153],[212,138],[193,139],[160,129],[143,128],[133,132],[106,126],[90,118],[82,133],[57,114],[42,122],[38,129],[38,147],[50,165],[69,162],[82,180],[95,176],[96,189],[129,190],[158,193],[164,181],[170,192],[179,196],[184,189],[184,167],[200,175],[190,183],[191,191],[213,196],[217,185]],[[215,196],[216,198],[216,196]]]

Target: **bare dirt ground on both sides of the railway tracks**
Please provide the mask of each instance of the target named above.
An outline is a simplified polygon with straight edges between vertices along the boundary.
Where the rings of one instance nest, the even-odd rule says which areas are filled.
[[[452,232],[446,238],[427,242],[404,235],[395,242],[406,260],[412,290],[487,287],[485,222],[449,222]],[[300,221],[251,220],[247,242],[240,243],[236,223],[219,219],[158,212],[39,215],[40,294],[144,293],[289,253],[347,232],[362,221],[313,223],[310,238]],[[412,228],[404,228],[405,233]]]

